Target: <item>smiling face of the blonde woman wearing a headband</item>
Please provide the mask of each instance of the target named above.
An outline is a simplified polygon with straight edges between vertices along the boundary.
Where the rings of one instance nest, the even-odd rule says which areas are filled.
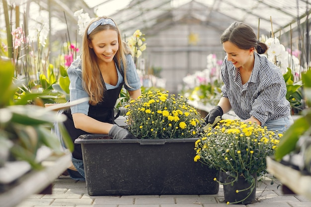
[[[118,33],[112,29],[100,31],[93,36],[89,47],[94,50],[99,62],[109,63],[119,49]]]

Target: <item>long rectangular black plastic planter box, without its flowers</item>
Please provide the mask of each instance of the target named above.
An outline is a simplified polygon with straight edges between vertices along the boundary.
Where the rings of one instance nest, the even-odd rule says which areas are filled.
[[[80,143],[87,193],[104,195],[213,195],[217,170],[194,162],[188,139],[100,139],[82,135]]]

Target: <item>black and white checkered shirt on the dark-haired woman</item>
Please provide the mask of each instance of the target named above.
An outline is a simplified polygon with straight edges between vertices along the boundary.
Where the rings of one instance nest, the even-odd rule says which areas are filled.
[[[225,60],[221,68],[223,96],[230,101],[234,113],[242,120],[251,116],[261,125],[290,115],[286,100],[286,83],[280,69],[266,57],[254,53],[255,64],[249,80],[242,85],[239,70]]]

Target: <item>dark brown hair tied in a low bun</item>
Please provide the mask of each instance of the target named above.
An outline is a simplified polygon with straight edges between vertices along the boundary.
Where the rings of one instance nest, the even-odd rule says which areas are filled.
[[[253,29],[242,22],[233,22],[222,34],[221,43],[230,41],[239,49],[248,50],[255,48],[258,54],[263,54],[268,47],[265,43],[257,40]]]

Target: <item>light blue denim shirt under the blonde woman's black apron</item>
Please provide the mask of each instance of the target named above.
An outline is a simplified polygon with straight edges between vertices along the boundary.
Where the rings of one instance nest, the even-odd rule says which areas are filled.
[[[121,74],[120,70],[117,69],[117,71],[118,71],[118,82],[115,86],[105,83],[107,90],[117,88],[120,84],[124,84],[124,88],[126,90],[129,90],[129,91],[138,90],[141,88],[141,81],[140,81],[140,78],[138,76],[138,73],[137,73],[134,61],[132,59],[132,56],[127,55],[126,60],[127,60],[126,77],[127,77],[128,85],[124,81],[123,74]],[[123,71],[122,67],[123,66],[121,65],[121,71]],[[116,65],[116,68],[117,68],[117,65]],[[77,100],[80,98],[89,97],[88,93],[84,90],[84,88],[82,86],[81,59],[78,58],[77,60],[75,60],[71,64],[71,66],[69,67],[67,72],[68,72],[68,76],[70,79],[70,85],[69,85],[70,100],[74,101],[74,100]],[[81,103],[81,104],[78,104],[76,106],[71,107],[72,114],[82,113],[82,114],[87,115],[88,109],[89,109],[89,103],[88,102],[84,102],[84,103]]]

